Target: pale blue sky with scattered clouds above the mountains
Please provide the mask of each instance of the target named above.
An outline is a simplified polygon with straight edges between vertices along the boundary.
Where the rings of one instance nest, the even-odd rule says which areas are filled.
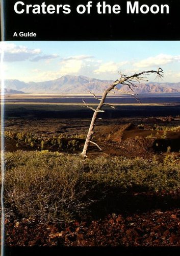
[[[5,79],[47,81],[63,75],[116,80],[164,71],[163,82],[180,81],[180,41],[4,41],[1,69]],[[148,76],[149,81],[156,76]]]

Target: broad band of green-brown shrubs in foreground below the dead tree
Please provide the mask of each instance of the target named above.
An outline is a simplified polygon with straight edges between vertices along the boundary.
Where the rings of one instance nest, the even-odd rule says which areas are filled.
[[[72,220],[92,202],[114,197],[113,191],[122,196],[137,187],[180,188],[180,167],[173,155],[162,163],[156,158],[83,159],[48,151],[6,153],[5,159],[5,207],[16,217],[38,217],[42,222]]]

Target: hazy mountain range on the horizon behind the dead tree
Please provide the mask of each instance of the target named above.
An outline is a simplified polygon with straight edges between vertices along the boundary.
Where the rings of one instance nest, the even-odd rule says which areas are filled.
[[[44,82],[23,82],[15,79],[5,80],[5,93],[31,94],[88,94],[89,91],[101,94],[114,80],[100,80],[85,76],[62,76],[55,80]],[[130,91],[127,86],[118,85],[121,91]],[[178,93],[180,82],[149,82],[138,83],[134,92],[143,93]]]

